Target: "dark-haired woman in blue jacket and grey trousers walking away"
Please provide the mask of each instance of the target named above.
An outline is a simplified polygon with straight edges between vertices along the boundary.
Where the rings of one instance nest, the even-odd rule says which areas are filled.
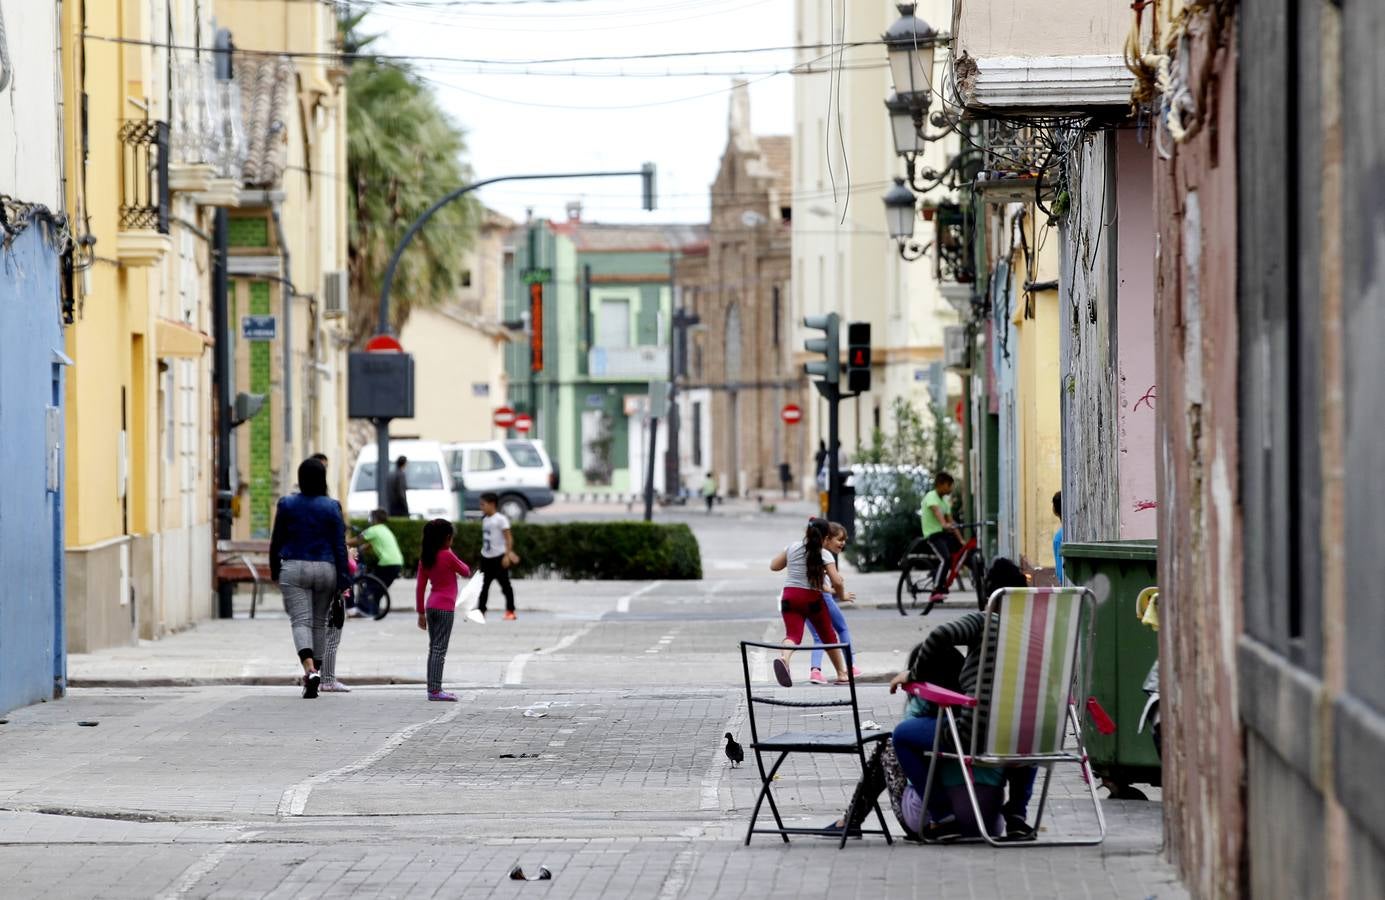
[[[303,699],[321,687],[321,654],[327,648],[327,612],[350,583],[346,565],[346,523],[341,505],[327,496],[327,468],[319,460],[298,467],[301,493],[281,497],[274,508],[269,544],[270,577],[284,594],[284,611],[303,666]]]

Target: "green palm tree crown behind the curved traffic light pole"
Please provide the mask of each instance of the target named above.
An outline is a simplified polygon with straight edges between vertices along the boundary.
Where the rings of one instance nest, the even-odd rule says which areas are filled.
[[[471,180],[467,145],[432,90],[407,65],[359,55],[375,40],[360,32],[364,12],[339,21],[346,79],[346,168],[350,223],[350,336],[375,332],[385,266],[404,228],[434,201]],[[446,300],[457,289],[478,205],[463,198],[439,210],[414,238],[391,287],[395,332],[410,310]]]

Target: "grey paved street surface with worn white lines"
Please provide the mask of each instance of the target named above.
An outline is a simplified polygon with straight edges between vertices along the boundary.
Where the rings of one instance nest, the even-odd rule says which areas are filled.
[[[722,735],[749,738],[735,641],[777,637],[765,561],[787,540],[784,518],[690,516],[701,583],[521,584],[518,622],[454,637],[456,705],[413,684],[303,702],[288,685],[287,623],[273,618],[75,660],[123,687],[76,688],[0,726],[0,894],[1186,896],[1159,856],[1158,802],[1105,802],[1100,847],[742,846],[759,781],[752,762],[727,764]],[[868,601],[893,586],[853,576],[852,587]],[[859,606],[846,615],[877,674],[956,615]],[[343,678],[421,673],[422,640],[392,623],[413,624],[363,623],[356,644],[348,631]],[[208,674],[247,660],[262,662]],[[799,677],[806,665],[795,660]],[[763,655],[751,669],[769,680]],[[157,687],[193,678],[235,683]],[[860,701],[866,719],[897,719],[881,684]],[[838,710],[777,708],[774,724],[835,727],[824,712]],[[857,774],[849,757],[791,757],[774,792],[794,824],[825,825]],[[1073,773],[1055,775],[1048,834],[1094,827],[1083,792]],[[554,878],[508,881],[515,864]]]

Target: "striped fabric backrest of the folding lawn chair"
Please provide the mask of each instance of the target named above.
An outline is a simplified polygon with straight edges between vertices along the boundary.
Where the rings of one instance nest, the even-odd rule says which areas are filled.
[[[1000,600],[986,691],[986,756],[1055,753],[1072,688],[1083,588],[1014,588]]]

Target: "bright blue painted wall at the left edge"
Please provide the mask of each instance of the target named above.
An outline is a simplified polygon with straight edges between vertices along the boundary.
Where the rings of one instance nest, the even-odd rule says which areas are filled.
[[[65,688],[60,280],[44,228],[0,242],[0,712]]]

